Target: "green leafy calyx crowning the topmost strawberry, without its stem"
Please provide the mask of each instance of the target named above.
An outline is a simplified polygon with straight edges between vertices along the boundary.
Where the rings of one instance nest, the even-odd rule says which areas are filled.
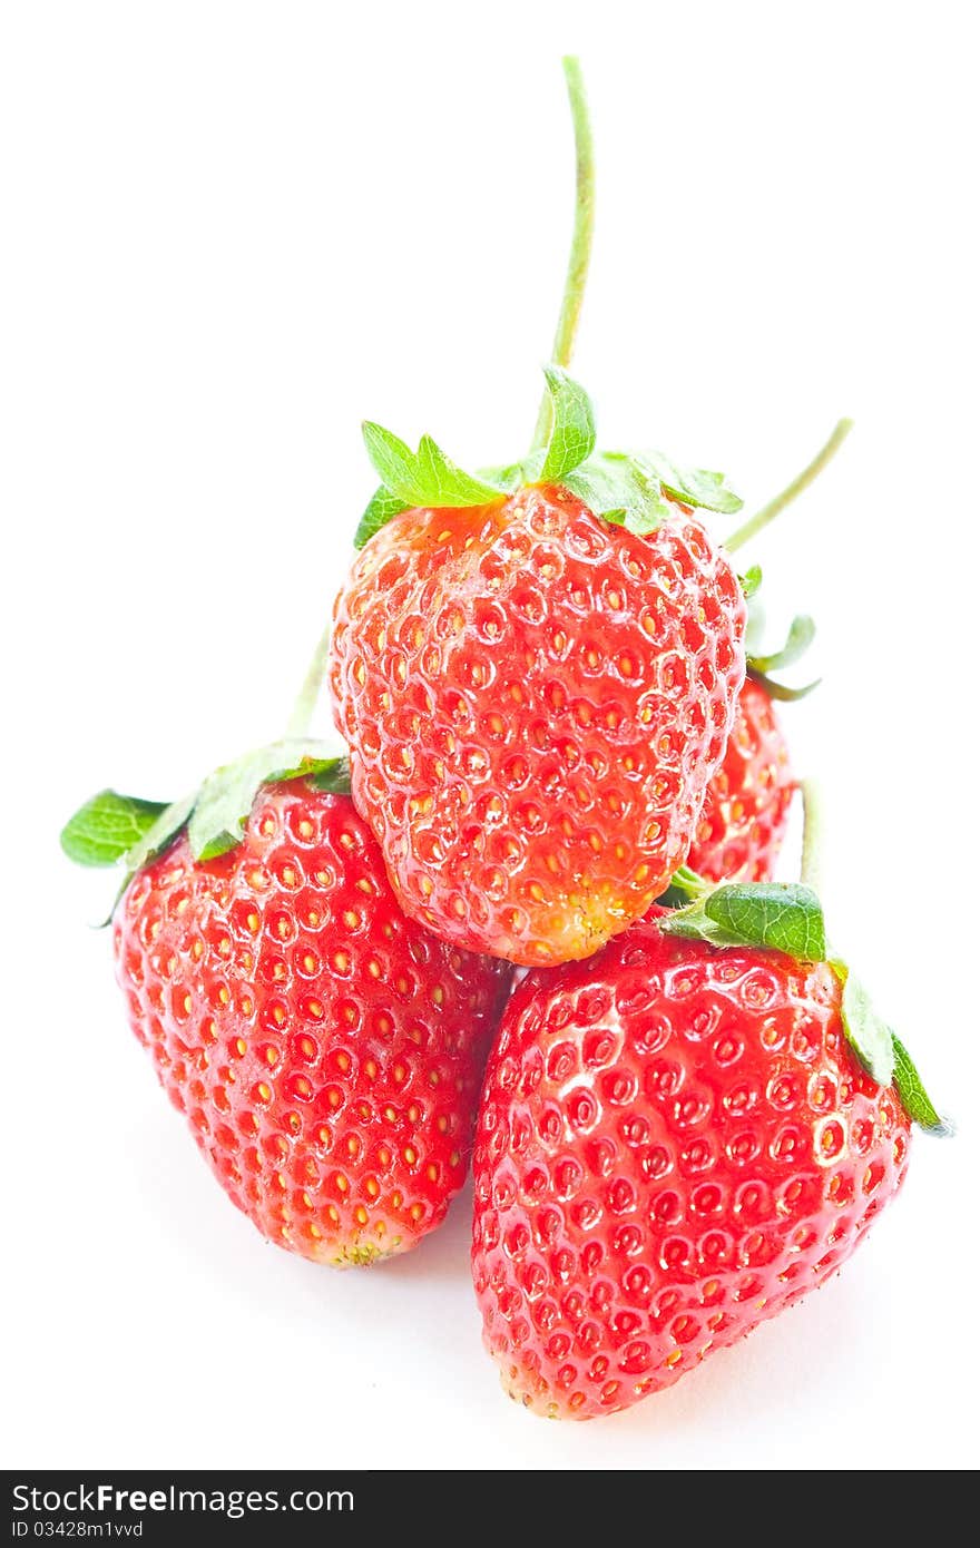
[[[499,505],[529,485],[564,485],[595,515],[636,536],[649,536],[677,505],[734,514],[742,500],[723,474],[680,467],[663,452],[596,452],[596,424],[587,392],[567,372],[545,367],[551,402],[545,444],[523,461],[468,474],[423,435],[418,450],[373,421],[364,444],[381,488],[355,534],[362,548],[393,515],[412,508],[466,509]]]

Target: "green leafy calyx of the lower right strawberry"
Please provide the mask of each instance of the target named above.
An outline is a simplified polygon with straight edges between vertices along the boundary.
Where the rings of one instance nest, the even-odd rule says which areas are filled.
[[[909,1051],[878,1015],[858,975],[839,957],[828,955],[824,909],[813,887],[804,882],[715,887],[684,865],[660,902],[673,909],[660,921],[664,935],[718,947],[757,946],[800,963],[827,963],[841,981],[844,1036],[861,1068],[876,1085],[893,1084],[906,1113],[926,1133],[952,1133],[929,1099]]]

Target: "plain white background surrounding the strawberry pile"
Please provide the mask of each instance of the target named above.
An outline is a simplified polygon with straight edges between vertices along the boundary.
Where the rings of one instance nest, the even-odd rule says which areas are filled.
[[[11,5],[0,26],[5,1461],[965,1468],[977,1341],[977,311],[969,8]],[[833,933],[955,1111],[833,1285],[587,1426],[508,1404],[468,1209],[384,1269],[263,1245],[155,1087],[65,816],[276,734],[372,489],[364,415],[529,437],[570,226],[607,443],[749,506],[814,611],[785,715]],[[11,1401],[12,1399],[12,1401]]]

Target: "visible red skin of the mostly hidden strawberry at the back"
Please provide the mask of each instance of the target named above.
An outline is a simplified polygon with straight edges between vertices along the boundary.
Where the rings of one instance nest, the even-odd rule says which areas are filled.
[[[725,762],[708,785],[687,865],[709,881],[771,881],[794,789],[773,700],[746,678]]]

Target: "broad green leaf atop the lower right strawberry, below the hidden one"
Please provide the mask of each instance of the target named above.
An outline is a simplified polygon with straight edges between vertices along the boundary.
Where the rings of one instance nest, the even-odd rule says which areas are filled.
[[[712,946],[765,946],[799,961],[827,955],[824,910],[800,882],[735,882],[661,921],[666,935]]]

